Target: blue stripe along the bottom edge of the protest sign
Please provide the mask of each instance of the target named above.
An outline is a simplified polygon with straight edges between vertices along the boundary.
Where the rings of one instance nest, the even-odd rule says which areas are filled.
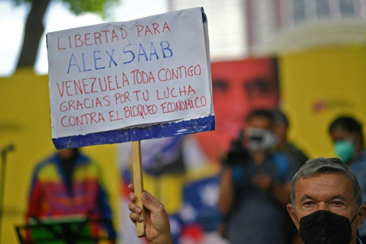
[[[161,123],[143,128],[109,130],[86,135],[52,138],[57,149],[75,148],[98,144],[122,143],[134,140],[160,138],[215,129],[215,116],[210,115],[189,121]]]

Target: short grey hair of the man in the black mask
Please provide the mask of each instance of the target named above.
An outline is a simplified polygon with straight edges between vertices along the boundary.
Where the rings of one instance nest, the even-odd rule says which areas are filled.
[[[353,189],[353,196],[355,200],[355,207],[358,210],[362,204],[362,193],[359,181],[355,173],[339,158],[324,158],[318,157],[309,159],[304,165],[296,172],[291,182],[291,204],[295,209],[295,184],[298,179],[305,179],[311,177],[316,173],[328,174],[333,172],[339,172],[347,176],[350,179]]]

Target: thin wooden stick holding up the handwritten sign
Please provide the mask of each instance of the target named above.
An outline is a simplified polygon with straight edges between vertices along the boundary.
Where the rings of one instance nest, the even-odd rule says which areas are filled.
[[[141,143],[139,140],[132,141],[132,172],[133,186],[135,188],[136,204],[142,209],[144,217],[144,207],[142,206],[141,194],[144,190],[142,182],[142,166],[141,166]],[[145,236],[145,221],[136,222],[137,237]]]

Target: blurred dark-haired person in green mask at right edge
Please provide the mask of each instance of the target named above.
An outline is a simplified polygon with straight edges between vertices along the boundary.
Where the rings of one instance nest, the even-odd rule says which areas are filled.
[[[329,125],[329,133],[335,154],[355,172],[363,203],[366,203],[366,149],[362,124],[349,116],[338,117]],[[366,243],[366,226],[360,230],[360,237]]]

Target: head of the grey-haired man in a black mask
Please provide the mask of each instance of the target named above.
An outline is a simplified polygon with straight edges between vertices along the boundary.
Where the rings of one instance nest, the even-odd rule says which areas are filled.
[[[352,170],[339,158],[319,157],[308,160],[292,178],[287,210],[305,243],[315,237],[335,242],[337,234],[355,239],[366,213],[361,204],[361,188]],[[333,237],[324,234],[335,230],[340,233]]]

